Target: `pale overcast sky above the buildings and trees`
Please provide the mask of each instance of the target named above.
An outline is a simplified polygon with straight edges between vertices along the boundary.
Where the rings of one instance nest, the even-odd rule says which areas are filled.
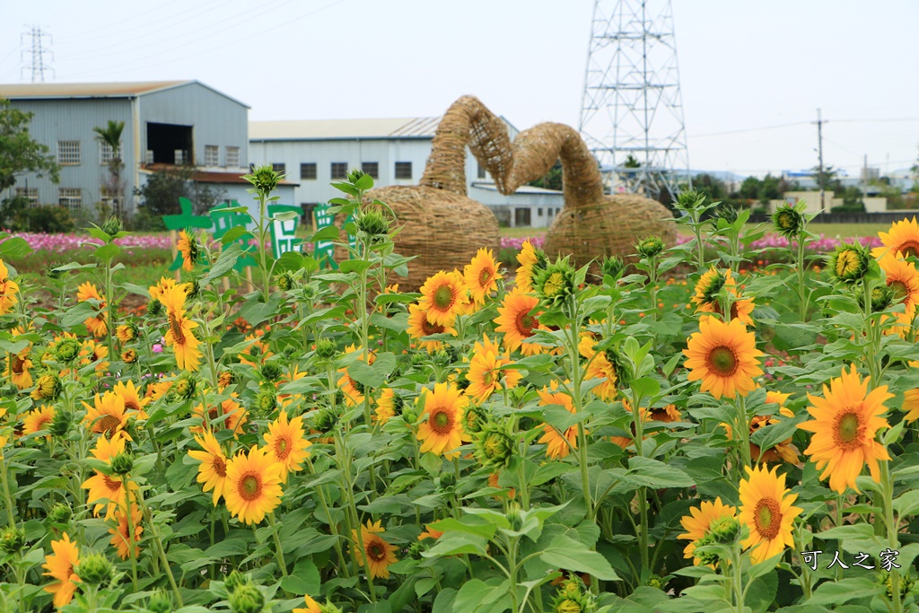
[[[615,0],[606,0],[612,6]],[[649,0],[649,5],[664,0]],[[197,79],[250,119],[437,116],[463,94],[519,129],[577,125],[592,0],[6,0],[0,83]],[[894,171],[919,152],[916,0],[673,0],[690,165]],[[794,125],[787,125],[794,124]],[[761,130],[763,128],[783,126]],[[725,134],[724,132],[732,132]]]

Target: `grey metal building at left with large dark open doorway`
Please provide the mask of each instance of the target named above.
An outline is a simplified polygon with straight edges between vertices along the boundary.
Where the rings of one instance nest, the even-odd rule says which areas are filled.
[[[219,187],[227,199],[248,204],[251,196],[239,177],[249,167],[248,110],[244,103],[198,81],[145,83],[0,85],[0,97],[14,108],[34,113],[32,138],[57,156],[61,181],[25,175],[12,188],[35,204],[59,204],[74,213],[92,214],[96,203],[121,213],[137,206],[134,188],[154,169],[195,165],[193,180]],[[93,128],[123,121],[124,163],[118,201],[110,186],[111,147],[96,139]],[[292,185],[283,187],[282,203],[292,204]],[[114,192],[114,193],[113,193]]]

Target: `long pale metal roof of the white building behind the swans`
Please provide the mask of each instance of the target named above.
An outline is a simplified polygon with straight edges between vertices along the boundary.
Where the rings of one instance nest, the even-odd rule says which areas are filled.
[[[250,141],[433,138],[439,117],[250,121]]]

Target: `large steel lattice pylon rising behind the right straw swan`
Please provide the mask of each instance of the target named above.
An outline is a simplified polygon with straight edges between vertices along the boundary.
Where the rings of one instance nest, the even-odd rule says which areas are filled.
[[[611,191],[691,184],[670,0],[594,0],[578,130]]]

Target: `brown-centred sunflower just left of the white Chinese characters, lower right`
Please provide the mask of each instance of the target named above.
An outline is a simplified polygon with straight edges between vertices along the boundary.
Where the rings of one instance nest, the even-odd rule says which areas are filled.
[[[791,528],[801,509],[791,505],[798,494],[785,489],[785,475],[777,473],[778,467],[772,471],[764,467],[744,468],[749,479],[741,480],[739,518],[750,528],[750,536],[742,545],[752,548],[750,558],[755,564],[784,551],[786,546],[794,546]]]

